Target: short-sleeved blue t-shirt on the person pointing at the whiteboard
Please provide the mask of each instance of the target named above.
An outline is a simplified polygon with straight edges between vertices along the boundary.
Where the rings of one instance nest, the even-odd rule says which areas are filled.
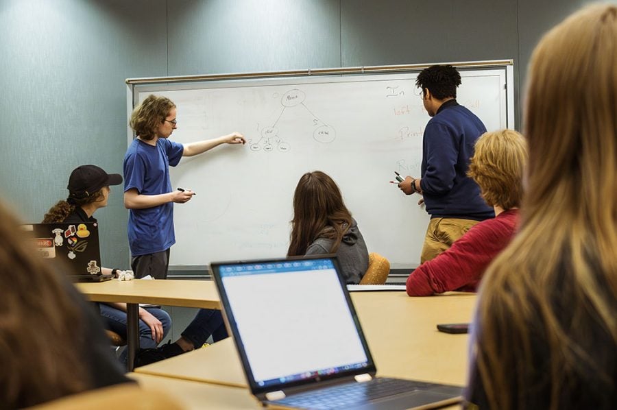
[[[136,189],[141,195],[171,192],[169,167],[182,158],[180,143],[159,138],[156,146],[137,138],[124,156],[124,192]],[[173,232],[173,202],[153,208],[130,209],[128,239],[132,256],[153,254],[171,248],[176,243]]]

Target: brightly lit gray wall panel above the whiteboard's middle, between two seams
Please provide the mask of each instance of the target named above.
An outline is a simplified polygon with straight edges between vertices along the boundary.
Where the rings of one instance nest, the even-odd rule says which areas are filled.
[[[340,67],[339,38],[336,0],[173,1],[169,73]]]

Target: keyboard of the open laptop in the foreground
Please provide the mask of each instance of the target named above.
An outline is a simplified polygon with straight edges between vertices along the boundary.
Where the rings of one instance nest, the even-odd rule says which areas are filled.
[[[345,409],[389,396],[436,386],[433,383],[409,381],[400,378],[373,378],[365,383],[349,383],[276,400],[272,403],[300,409]]]

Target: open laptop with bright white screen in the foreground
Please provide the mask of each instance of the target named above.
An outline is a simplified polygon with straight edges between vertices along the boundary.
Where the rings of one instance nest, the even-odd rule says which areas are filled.
[[[336,256],[210,264],[252,394],[292,409],[433,409],[462,387],[377,378]]]

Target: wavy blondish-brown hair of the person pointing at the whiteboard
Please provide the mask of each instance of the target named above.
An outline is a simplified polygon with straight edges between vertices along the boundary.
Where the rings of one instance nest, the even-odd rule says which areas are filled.
[[[130,126],[139,138],[149,141],[156,136],[156,129],[165,122],[176,104],[167,97],[148,95],[131,113]]]

